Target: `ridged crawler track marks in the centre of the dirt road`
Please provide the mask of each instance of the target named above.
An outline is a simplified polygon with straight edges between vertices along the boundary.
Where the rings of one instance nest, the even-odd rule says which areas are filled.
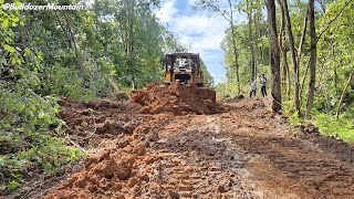
[[[227,137],[215,116],[178,117],[160,132],[164,156],[162,185],[181,198],[257,198],[241,178],[239,148]]]

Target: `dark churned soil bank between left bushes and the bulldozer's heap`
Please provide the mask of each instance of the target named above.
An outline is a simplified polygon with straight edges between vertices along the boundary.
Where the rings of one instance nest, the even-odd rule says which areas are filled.
[[[69,100],[60,102],[60,116],[66,123],[66,132],[81,146],[101,146],[106,139],[131,135],[148,115],[137,114],[140,105],[135,103],[91,102]]]

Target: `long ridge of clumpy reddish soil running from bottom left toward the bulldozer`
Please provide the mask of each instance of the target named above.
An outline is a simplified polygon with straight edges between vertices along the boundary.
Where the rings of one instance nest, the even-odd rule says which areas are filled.
[[[82,170],[54,187],[44,199],[124,199],[157,195],[158,190],[154,188],[157,185],[152,179],[156,178],[159,156],[150,147],[158,139],[154,129],[166,119],[157,117],[136,127],[132,135],[122,134],[106,140],[105,147],[84,159]]]

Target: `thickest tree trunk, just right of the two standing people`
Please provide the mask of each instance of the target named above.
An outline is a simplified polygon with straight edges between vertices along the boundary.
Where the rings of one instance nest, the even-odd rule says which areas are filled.
[[[281,77],[280,77],[280,55],[277,39],[277,15],[274,0],[267,1],[268,10],[268,30],[270,44],[270,66],[272,73],[271,94],[272,94],[272,109],[275,113],[281,111]]]

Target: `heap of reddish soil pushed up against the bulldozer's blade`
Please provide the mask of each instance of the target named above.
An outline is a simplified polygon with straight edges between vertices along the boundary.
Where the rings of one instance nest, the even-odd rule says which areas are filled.
[[[198,87],[196,84],[166,86],[150,84],[145,90],[134,91],[131,101],[140,104],[140,113],[174,115],[215,114],[219,112],[216,103],[216,92]]]

